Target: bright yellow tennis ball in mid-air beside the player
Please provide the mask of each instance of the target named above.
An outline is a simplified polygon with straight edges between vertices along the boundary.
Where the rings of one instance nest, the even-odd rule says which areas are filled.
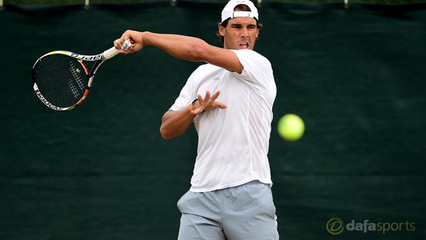
[[[278,121],[278,133],[287,141],[296,141],[304,133],[303,120],[298,115],[284,115]]]

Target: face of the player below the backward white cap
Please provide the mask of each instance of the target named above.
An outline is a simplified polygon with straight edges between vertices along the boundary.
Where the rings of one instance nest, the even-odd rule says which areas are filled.
[[[229,19],[226,27],[219,24],[219,33],[223,36],[225,49],[253,49],[259,29],[256,19],[237,17]]]

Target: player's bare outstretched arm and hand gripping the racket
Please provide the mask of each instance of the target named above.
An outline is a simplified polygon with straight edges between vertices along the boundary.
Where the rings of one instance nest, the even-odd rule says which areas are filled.
[[[127,30],[120,40],[114,42],[115,48],[121,49],[122,43],[128,39],[133,40],[133,46],[128,51],[120,50],[124,54],[139,51],[145,46],[154,46],[182,60],[208,62],[237,73],[243,71],[243,65],[233,51],[214,47],[200,38]]]

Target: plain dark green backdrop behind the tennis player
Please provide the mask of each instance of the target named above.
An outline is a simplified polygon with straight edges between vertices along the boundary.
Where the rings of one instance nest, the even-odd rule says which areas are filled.
[[[222,5],[95,5],[0,12],[0,239],[176,239],[193,128],[159,135],[198,63],[146,47],[102,65],[85,104],[49,110],[30,84],[47,51],[96,54],[125,29],[212,45]],[[286,3],[260,8],[256,50],[278,87],[269,160],[281,239],[425,239],[424,5]],[[300,115],[289,143],[276,123]],[[330,235],[328,219],[415,230]]]

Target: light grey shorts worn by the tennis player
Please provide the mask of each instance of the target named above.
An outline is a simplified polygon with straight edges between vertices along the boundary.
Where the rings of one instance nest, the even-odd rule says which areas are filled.
[[[272,192],[258,181],[205,193],[188,191],[177,202],[179,240],[277,240]]]

